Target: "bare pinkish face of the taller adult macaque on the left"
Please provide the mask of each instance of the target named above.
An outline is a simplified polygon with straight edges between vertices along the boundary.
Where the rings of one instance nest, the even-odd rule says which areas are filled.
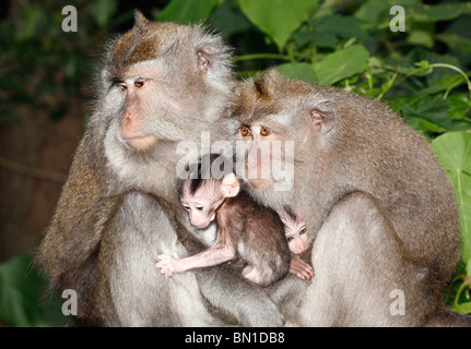
[[[172,76],[160,70],[164,61],[164,58],[157,58],[137,63],[113,81],[113,93],[121,106],[117,119],[118,136],[132,149],[143,152],[160,140],[172,141],[173,134],[181,128],[178,125],[179,119],[174,116],[189,116],[192,107],[199,109],[198,101],[193,101],[192,106],[189,101],[191,91],[187,96],[180,96],[176,84],[172,83]],[[197,81],[195,85],[198,85]],[[199,100],[196,94],[191,94],[192,99]]]

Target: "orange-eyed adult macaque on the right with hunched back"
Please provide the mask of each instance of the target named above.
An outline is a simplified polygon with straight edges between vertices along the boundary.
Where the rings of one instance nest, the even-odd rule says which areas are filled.
[[[235,139],[246,142],[246,154],[237,154],[245,166],[237,168],[249,193],[273,209],[299,205],[315,240],[316,277],[299,294],[295,324],[469,321],[440,302],[460,257],[452,188],[427,142],[399,116],[373,99],[270,70],[236,89],[233,118]],[[294,157],[281,154],[294,165],[293,186],[275,190],[276,177],[254,169],[266,159],[248,158],[262,142],[283,149],[289,141]]]

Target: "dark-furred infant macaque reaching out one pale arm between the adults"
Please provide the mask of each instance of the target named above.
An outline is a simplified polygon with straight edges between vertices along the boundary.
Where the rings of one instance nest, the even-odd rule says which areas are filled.
[[[243,269],[244,277],[261,287],[286,276],[293,262],[279,215],[258,205],[242,191],[234,173],[225,174],[223,179],[203,178],[198,176],[192,179],[189,176],[180,183],[178,194],[192,226],[203,229],[213,220],[216,221],[216,241],[203,252],[184,258],[175,253],[158,255],[155,266],[161,268],[161,273],[173,275],[214,266],[239,256],[247,263]],[[302,278],[314,275],[310,265],[299,258],[296,262],[296,275]]]

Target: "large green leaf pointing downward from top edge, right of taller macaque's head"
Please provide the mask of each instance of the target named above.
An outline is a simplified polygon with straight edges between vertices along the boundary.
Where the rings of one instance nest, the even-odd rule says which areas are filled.
[[[280,51],[295,29],[316,10],[315,0],[239,0],[240,10]]]

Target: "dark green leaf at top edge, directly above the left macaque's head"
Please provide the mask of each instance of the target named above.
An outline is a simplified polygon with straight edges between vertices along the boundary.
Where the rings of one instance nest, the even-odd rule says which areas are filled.
[[[157,20],[181,24],[200,23],[210,16],[217,4],[217,0],[172,0],[157,14]]]

